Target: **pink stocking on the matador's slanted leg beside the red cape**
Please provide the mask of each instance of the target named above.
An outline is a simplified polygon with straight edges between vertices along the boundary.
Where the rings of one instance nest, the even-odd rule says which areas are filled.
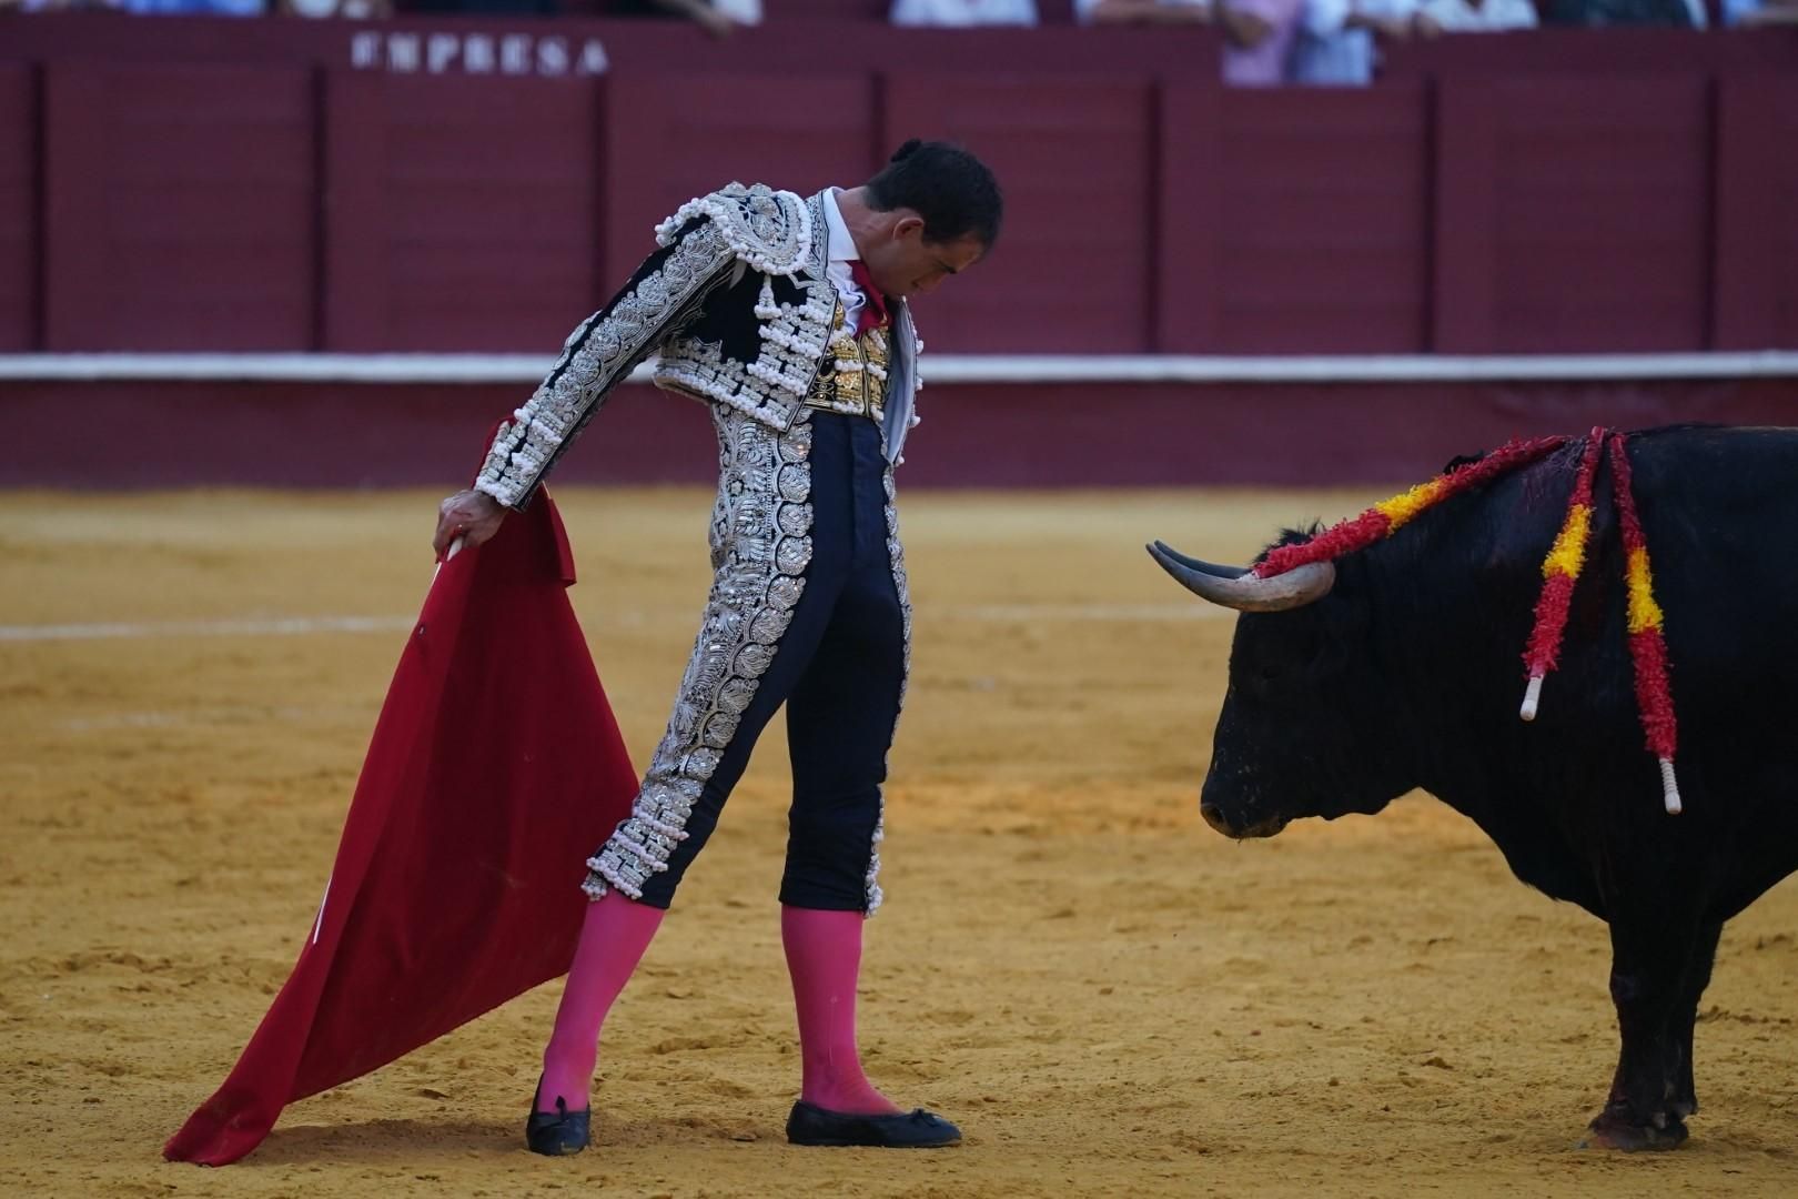
[[[619,892],[606,892],[586,906],[581,942],[568,967],[563,1001],[556,1008],[556,1032],[543,1050],[543,1088],[538,1111],[556,1111],[556,1097],[568,1111],[588,1106],[593,1066],[599,1061],[599,1026],[613,999],[662,926],[662,908],[640,904]]]

